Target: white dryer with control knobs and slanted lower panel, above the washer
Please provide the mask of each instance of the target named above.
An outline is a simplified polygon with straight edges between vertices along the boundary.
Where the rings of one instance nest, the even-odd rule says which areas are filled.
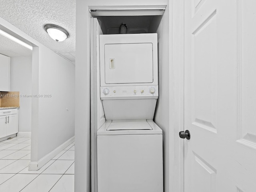
[[[100,35],[106,120],[152,120],[158,98],[157,34]]]

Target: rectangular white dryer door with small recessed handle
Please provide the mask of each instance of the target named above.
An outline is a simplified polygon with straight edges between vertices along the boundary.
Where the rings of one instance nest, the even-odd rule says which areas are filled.
[[[105,44],[105,83],[153,82],[153,44]]]

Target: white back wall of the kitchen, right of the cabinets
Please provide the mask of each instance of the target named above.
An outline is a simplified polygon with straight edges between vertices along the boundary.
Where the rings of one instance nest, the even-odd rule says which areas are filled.
[[[32,94],[32,57],[11,57],[10,91]],[[31,132],[32,98],[20,97],[19,132]]]

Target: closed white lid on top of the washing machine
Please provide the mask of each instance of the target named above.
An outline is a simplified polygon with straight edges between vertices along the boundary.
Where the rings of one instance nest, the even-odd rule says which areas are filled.
[[[144,121],[112,121],[107,131],[114,130],[152,130],[146,120]]]

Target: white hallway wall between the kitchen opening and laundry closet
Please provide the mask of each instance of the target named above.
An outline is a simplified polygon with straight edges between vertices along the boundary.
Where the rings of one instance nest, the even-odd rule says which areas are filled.
[[[31,161],[40,160],[74,136],[75,66],[45,47],[38,48],[38,55],[38,66],[33,63],[38,76],[33,76],[32,92],[43,97],[32,101],[38,108],[33,127],[38,130],[32,132],[32,140],[35,134],[38,145],[32,148]]]

